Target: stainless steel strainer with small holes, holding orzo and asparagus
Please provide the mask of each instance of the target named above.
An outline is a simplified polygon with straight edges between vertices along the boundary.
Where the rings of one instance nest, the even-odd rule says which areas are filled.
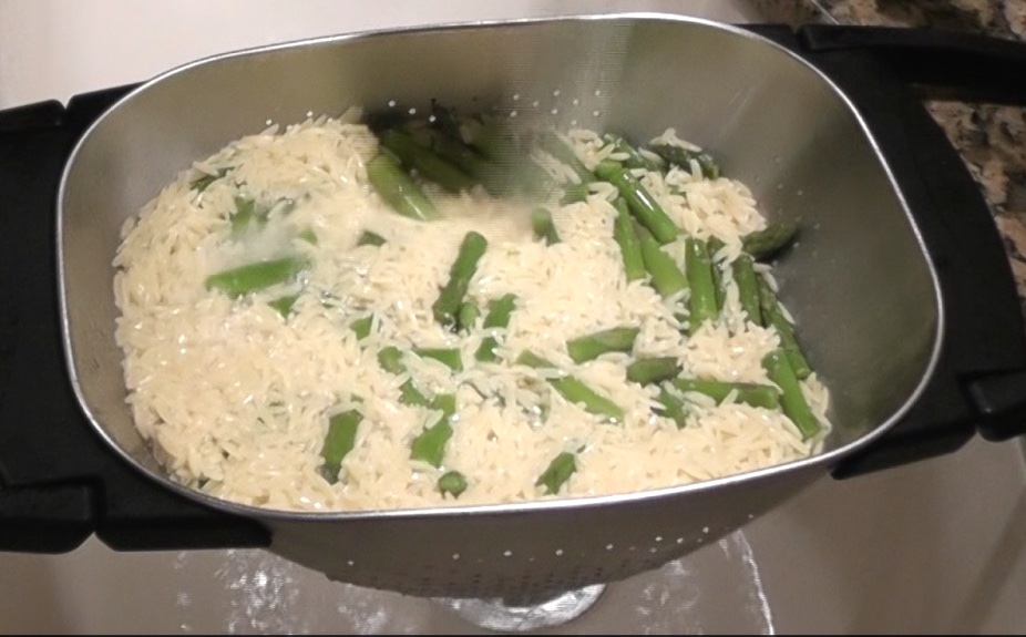
[[[824,453],[633,495],[419,511],[284,513],[167,480],[132,423],[113,338],[111,261],[123,220],[168,175],[269,121],[350,105],[424,112],[432,100],[632,140],[673,126],[750,185],[768,216],[800,220],[801,245],[778,276],[815,369],[835,389],[838,427]],[[914,220],[844,95],[763,37],[679,16],[366,32],[175,69],[81,140],[61,185],[59,242],[72,381],[122,459],[204,506],[259,521],[274,553],[332,579],[417,596],[541,597],[654,569],[717,541],[890,429],[928,380],[943,323]],[[872,306],[858,300],[866,290]]]

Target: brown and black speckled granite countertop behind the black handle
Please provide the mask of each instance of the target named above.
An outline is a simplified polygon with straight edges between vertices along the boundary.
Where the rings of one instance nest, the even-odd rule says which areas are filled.
[[[930,27],[1026,42],[1026,0],[760,0],[772,21]],[[1020,81],[1022,79],[1009,79]],[[981,185],[1026,314],[1026,107],[927,101]]]

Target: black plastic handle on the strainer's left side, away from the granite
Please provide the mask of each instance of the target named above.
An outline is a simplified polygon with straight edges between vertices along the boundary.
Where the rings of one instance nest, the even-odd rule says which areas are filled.
[[[252,520],[157,487],[105,449],[69,383],[57,299],[57,193],[68,154],[129,88],[0,113],[0,551],[266,546]]]

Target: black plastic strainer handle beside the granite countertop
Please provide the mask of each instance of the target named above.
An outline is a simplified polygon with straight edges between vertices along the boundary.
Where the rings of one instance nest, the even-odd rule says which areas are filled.
[[[937,271],[947,329],[933,381],[888,435],[847,459],[845,477],[954,451],[975,433],[1026,433],[1026,325],[979,185],[924,97],[1026,103],[1026,44],[936,30],[808,25],[799,52],[862,114]]]

